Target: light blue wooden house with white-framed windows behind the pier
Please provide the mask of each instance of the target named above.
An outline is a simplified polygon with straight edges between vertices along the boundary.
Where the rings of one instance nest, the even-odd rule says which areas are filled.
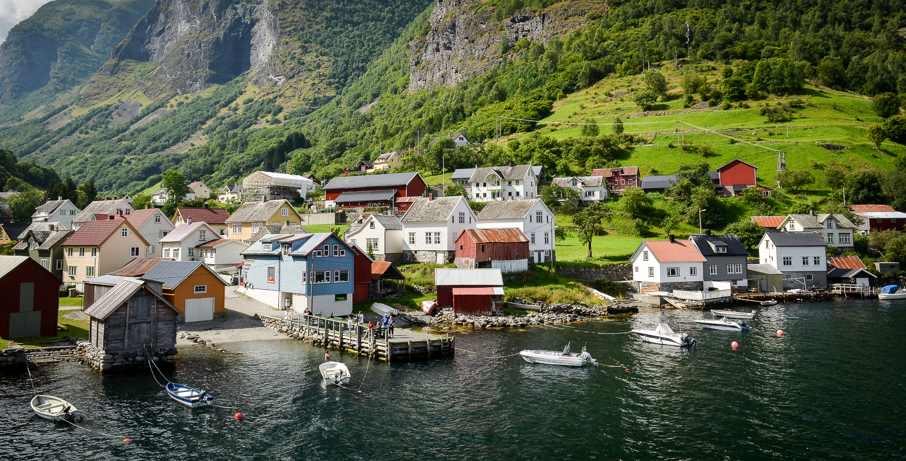
[[[352,248],[333,233],[268,234],[242,254],[241,293],[277,309],[352,313]]]

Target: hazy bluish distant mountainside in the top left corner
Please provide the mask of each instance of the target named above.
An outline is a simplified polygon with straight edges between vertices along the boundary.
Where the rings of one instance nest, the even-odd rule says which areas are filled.
[[[152,5],[54,0],[16,24],[0,45],[0,123],[86,82]]]

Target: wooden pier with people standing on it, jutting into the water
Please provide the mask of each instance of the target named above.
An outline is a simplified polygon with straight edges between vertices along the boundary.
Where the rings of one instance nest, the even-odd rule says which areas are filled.
[[[265,326],[291,338],[388,362],[440,359],[456,353],[456,338],[448,334],[436,335],[398,327],[393,336],[388,337],[388,332],[380,328],[358,324],[350,328],[345,319],[303,315],[289,320],[261,314],[258,318]]]

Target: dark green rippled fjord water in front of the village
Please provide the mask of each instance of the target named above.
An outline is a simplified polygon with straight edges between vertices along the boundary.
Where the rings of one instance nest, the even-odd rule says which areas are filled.
[[[743,309],[748,306],[737,306]],[[643,309],[620,322],[459,334],[455,359],[368,364],[332,351],[352,389],[325,388],[323,349],[300,341],[182,348],[178,381],[227,408],[185,408],[149,372],[43,366],[42,393],[82,408],[86,434],[34,417],[23,375],[0,375],[0,458],[55,459],[892,459],[906,456],[906,303],[835,301],[759,309],[743,333],[701,330],[700,311]],[[643,343],[670,322],[700,345]],[[786,334],[777,337],[776,330]],[[506,356],[587,345],[602,366]],[[740,347],[732,350],[731,341]],[[573,349],[575,350],[575,349]],[[629,369],[629,370],[626,370]],[[367,370],[367,377],[365,372]],[[361,383],[361,379],[364,382]],[[361,386],[361,394],[355,389]]]

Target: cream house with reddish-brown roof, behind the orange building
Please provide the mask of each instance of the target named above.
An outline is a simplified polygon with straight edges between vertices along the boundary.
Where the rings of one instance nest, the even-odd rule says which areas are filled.
[[[110,215],[105,221],[88,221],[63,242],[63,283],[82,283],[111,273],[135,258],[148,257],[150,244],[129,221]]]

